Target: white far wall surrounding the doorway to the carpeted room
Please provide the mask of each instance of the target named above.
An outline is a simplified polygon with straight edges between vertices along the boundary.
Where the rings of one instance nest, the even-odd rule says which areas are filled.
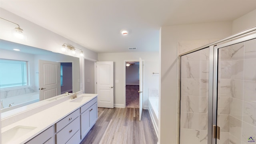
[[[143,108],[148,108],[149,88],[158,88],[158,77],[152,76],[159,70],[158,52],[126,52],[98,54],[99,61],[114,61],[114,106],[125,107],[125,61],[144,60],[144,102]],[[118,82],[116,82],[118,81]]]

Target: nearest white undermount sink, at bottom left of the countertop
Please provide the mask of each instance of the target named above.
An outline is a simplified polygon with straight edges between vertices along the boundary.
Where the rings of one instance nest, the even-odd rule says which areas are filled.
[[[10,140],[16,140],[22,137],[24,134],[34,130],[36,127],[33,126],[15,126],[10,130],[2,133],[3,144],[8,143]]]

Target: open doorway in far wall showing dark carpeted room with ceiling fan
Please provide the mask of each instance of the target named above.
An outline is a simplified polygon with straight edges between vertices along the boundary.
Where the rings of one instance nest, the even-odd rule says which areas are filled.
[[[139,61],[126,61],[126,108],[139,108]]]

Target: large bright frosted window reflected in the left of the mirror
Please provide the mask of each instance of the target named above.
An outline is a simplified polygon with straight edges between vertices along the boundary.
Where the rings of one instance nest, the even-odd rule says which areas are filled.
[[[0,88],[28,85],[28,62],[0,59]]]

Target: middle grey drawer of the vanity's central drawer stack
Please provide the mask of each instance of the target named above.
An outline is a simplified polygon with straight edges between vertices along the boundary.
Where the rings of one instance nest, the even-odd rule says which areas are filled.
[[[78,130],[80,130],[80,118],[76,118],[56,134],[56,144],[65,144]]]

